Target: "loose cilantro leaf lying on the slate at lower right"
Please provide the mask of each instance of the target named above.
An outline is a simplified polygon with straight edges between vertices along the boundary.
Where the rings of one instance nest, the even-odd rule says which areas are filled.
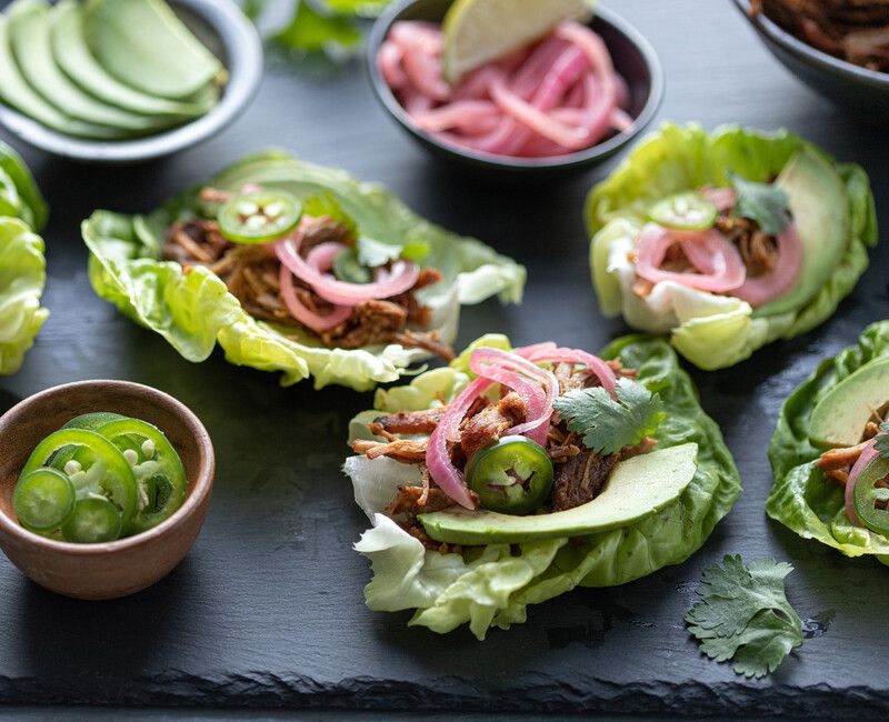
[[[689,632],[701,652],[717,662],[733,660],[746,676],[765,676],[778,669],[791,650],[802,645],[802,620],[790,606],[786,562],[761,559],[745,568],[739,554],[703,571],[697,593],[703,598],[687,613]]]

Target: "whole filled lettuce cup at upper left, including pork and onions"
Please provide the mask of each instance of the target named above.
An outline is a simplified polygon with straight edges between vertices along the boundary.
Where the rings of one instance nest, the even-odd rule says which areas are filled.
[[[379,185],[250,156],[148,215],[82,224],[96,292],[189,361],[358,391],[452,358],[461,304],[519,302],[525,269]]]

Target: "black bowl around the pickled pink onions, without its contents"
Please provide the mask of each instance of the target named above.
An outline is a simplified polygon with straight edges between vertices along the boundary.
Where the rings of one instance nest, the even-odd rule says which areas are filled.
[[[408,113],[386,84],[377,67],[377,52],[399,20],[427,20],[441,22],[453,0],[402,0],[394,2],[373,26],[368,43],[368,69],[373,90],[383,108],[423,148],[439,158],[469,166],[476,170],[496,171],[525,177],[552,176],[557,172],[595,166],[629,143],[651,121],[663,97],[663,71],[649,42],[629,23],[612,12],[597,10],[590,27],[598,32],[630,90],[628,112],[633,118],[631,128],[608,138],[592,148],[553,158],[511,158],[491,156],[460,149],[439,142],[413,124]]]

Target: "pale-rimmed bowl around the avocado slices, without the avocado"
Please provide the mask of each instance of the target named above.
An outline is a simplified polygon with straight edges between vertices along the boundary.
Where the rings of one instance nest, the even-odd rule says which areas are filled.
[[[209,113],[170,130],[133,140],[101,141],[66,136],[0,102],[0,123],[16,138],[52,156],[88,163],[136,163],[196,146],[228,128],[259,90],[262,41],[233,0],[171,0],[198,16],[228,54],[228,84]]]

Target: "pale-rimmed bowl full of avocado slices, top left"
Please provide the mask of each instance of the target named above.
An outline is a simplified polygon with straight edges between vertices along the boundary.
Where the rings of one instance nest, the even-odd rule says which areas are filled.
[[[228,127],[262,44],[231,0],[14,0],[0,14],[0,124],[54,156],[160,158]]]

